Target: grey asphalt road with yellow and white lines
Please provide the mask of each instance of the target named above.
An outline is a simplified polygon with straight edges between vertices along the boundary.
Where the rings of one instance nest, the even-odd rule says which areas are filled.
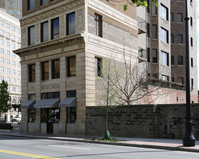
[[[198,159],[199,153],[0,136],[0,159]]]

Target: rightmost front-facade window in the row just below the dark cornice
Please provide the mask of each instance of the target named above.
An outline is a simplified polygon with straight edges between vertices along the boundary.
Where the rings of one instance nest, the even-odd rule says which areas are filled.
[[[67,76],[76,76],[76,57],[67,58]]]

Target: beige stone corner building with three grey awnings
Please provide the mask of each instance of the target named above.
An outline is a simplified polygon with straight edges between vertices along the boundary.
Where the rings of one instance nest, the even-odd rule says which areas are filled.
[[[20,22],[21,132],[84,135],[104,58],[120,61],[125,46],[137,62],[136,6],[124,12],[106,0],[24,0]]]

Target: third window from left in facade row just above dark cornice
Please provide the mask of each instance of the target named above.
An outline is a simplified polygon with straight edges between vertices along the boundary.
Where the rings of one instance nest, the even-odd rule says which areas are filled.
[[[51,20],[51,39],[59,38],[59,18]]]

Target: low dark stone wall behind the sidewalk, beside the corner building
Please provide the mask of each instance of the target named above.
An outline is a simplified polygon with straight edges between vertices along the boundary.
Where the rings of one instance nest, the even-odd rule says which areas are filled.
[[[103,136],[103,107],[87,107],[86,135]],[[199,106],[192,105],[193,133],[199,138]],[[133,105],[113,107],[109,113],[112,136],[144,138],[183,138],[185,135],[185,105]]]

